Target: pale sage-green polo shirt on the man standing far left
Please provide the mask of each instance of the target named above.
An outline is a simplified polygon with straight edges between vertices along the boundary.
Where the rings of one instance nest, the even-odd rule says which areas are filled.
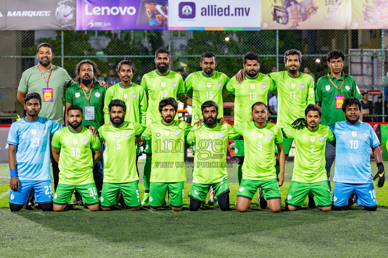
[[[50,70],[45,71],[40,67],[43,76],[49,79]],[[52,73],[49,80],[49,88],[52,88],[53,101],[43,102],[43,89],[47,88],[45,80],[39,72],[38,66],[35,65],[22,73],[22,79],[17,89],[23,93],[37,92],[42,98],[42,110],[39,116],[50,118],[61,125],[64,125],[63,120],[63,87],[70,87],[75,82],[71,79],[68,72],[61,67],[52,65]]]

